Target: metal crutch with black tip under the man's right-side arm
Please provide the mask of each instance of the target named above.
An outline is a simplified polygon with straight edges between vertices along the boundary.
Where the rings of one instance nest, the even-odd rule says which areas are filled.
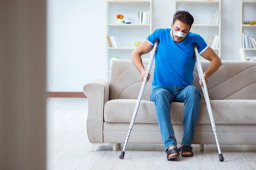
[[[208,113],[209,113],[210,121],[212,123],[212,130],[213,130],[213,133],[215,135],[215,140],[216,140],[217,147],[218,147],[219,160],[222,162],[222,161],[224,161],[224,157],[221,153],[221,148],[220,148],[220,145],[219,145],[219,142],[218,142],[215,123],[214,123],[214,119],[213,119],[213,116],[212,116],[212,108],[211,108],[211,104],[210,104],[210,99],[209,99],[209,95],[208,95],[208,91],[207,91],[206,82],[205,82],[205,79],[203,77],[204,72],[203,72],[203,68],[202,68],[201,61],[200,61],[199,54],[198,54],[198,44],[196,42],[194,42],[193,46],[194,46],[195,63],[196,63],[196,67],[198,69],[199,79],[202,79],[202,81],[203,81],[202,90],[203,90],[203,93],[204,93],[204,99],[205,99],[205,102],[206,102],[206,106],[207,106],[207,110],[208,110]]]

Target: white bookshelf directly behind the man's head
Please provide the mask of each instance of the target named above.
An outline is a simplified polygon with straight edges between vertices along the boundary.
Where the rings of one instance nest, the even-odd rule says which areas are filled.
[[[206,42],[208,37],[218,35],[218,46],[211,47],[221,58],[221,0],[175,0],[175,11],[178,10],[192,14],[194,23],[190,31],[200,34]],[[214,11],[219,11],[218,22],[211,23]]]

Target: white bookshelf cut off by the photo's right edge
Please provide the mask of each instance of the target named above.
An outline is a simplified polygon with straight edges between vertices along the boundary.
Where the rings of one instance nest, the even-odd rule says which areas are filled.
[[[256,39],[256,0],[240,0],[240,48],[244,48],[246,52],[246,56],[256,56],[256,48],[253,48],[253,44],[250,41],[247,41],[245,44],[247,37],[254,37]],[[244,21],[255,21],[254,25],[244,24]]]

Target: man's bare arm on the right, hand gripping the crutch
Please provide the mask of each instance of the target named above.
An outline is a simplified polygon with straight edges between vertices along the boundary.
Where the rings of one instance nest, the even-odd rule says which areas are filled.
[[[208,77],[210,77],[212,74],[214,74],[218,70],[218,68],[221,67],[221,59],[220,59],[220,57],[218,57],[218,55],[215,53],[215,51],[212,50],[211,47],[208,47],[207,50],[205,50],[201,54],[201,56],[204,57],[205,59],[208,59],[211,62],[209,67],[207,68],[207,70],[204,72],[204,75],[203,75],[205,82],[207,84]],[[203,86],[202,79],[199,80],[199,83],[201,86]]]

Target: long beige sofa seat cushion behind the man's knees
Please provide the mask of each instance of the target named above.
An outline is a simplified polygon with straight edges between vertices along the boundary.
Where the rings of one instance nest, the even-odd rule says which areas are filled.
[[[105,103],[104,121],[130,123],[137,99],[113,99]],[[256,124],[256,100],[211,100],[215,124]],[[183,123],[184,103],[171,103],[171,121]],[[157,123],[154,102],[142,100],[135,123]],[[205,101],[201,101],[198,124],[211,124]]]

